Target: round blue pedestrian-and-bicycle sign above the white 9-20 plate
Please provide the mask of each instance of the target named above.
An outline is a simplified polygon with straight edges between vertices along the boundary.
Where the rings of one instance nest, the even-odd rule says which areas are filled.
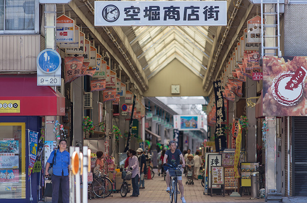
[[[61,56],[55,50],[46,49],[38,54],[36,62],[43,73],[54,73],[61,66]]]

